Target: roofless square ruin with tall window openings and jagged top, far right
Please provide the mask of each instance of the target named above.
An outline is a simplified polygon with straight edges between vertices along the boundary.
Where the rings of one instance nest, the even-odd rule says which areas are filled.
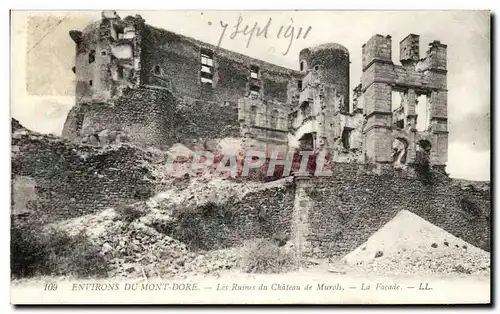
[[[392,61],[392,39],[375,35],[362,48],[361,93],[367,162],[427,164],[447,162],[446,45],[429,44],[419,55],[419,36],[400,42],[401,65]]]

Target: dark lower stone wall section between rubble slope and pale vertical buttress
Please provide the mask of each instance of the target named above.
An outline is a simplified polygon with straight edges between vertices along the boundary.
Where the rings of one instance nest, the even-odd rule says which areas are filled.
[[[292,186],[265,188],[224,204],[181,206],[174,210],[174,220],[153,227],[192,249],[238,246],[256,238],[281,241],[283,245],[290,237],[293,201]]]

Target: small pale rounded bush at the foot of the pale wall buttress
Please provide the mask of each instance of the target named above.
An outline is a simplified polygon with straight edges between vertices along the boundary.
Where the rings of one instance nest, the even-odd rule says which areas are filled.
[[[295,255],[266,239],[243,248],[241,267],[247,273],[283,273],[296,267]]]

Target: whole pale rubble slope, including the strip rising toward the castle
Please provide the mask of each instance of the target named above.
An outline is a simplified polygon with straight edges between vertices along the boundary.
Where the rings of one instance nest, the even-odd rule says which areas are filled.
[[[283,184],[283,183],[273,183]],[[201,206],[224,202],[262,188],[224,179],[194,180],[184,189],[159,193],[146,202],[110,208],[48,227],[70,234],[84,233],[110,261],[112,277],[175,277],[214,274],[238,267],[239,248],[190,251],[187,246],[153,228],[155,222],[171,222],[175,206]]]

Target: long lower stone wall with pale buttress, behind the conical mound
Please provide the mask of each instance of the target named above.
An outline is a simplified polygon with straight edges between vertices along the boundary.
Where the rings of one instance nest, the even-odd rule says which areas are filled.
[[[409,210],[474,246],[490,250],[490,192],[434,171],[431,180],[375,174],[336,163],[333,177],[302,177],[224,205],[202,206],[174,222],[203,249],[246,240],[290,240],[304,256],[340,257],[364,243],[399,211]],[[175,228],[173,226],[173,228]],[[179,227],[180,226],[180,227]],[[178,238],[177,234],[171,234]]]

